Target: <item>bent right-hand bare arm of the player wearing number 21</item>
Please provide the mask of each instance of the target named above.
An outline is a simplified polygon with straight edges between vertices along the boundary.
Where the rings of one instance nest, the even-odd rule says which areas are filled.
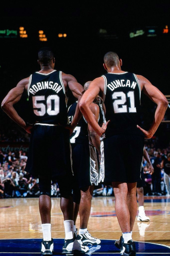
[[[141,75],[137,75],[137,77],[143,93],[157,104],[154,120],[149,131],[142,129],[140,126],[137,126],[145,134],[145,138],[150,139],[156,132],[160,122],[165,115],[168,107],[168,101],[164,94],[161,93],[161,91],[159,91],[159,89],[156,88],[154,85],[152,85],[148,79]]]

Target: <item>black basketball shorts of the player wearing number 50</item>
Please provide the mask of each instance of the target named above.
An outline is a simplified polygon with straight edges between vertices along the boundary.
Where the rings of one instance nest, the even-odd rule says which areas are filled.
[[[34,125],[25,171],[33,176],[67,176],[72,173],[69,130],[61,126]]]

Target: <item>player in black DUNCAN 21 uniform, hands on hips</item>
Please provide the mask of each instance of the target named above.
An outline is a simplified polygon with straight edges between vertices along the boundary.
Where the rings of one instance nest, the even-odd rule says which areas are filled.
[[[144,138],[151,138],[157,130],[168,101],[145,77],[122,71],[121,66],[122,60],[116,53],[106,53],[104,68],[107,74],[92,81],[79,107],[104,144],[104,181],[112,183],[115,211],[122,231],[121,239],[115,245],[120,247],[121,255],[133,256],[136,255],[132,240],[137,214],[136,182],[140,178]],[[139,123],[141,91],[157,104],[148,131],[142,129]],[[96,95],[101,96],[106,107],[107,123],[102,127],[97,124],[89,108]]]

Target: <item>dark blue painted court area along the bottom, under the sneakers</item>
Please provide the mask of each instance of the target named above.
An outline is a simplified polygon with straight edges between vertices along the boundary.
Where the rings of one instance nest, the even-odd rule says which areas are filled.
[[[0,239],[0,255],[3,256],[32,256],[32,255],[41,255],[42,239]],[[54,255],[62,254],[62,247],[64,244],[64,239],[53,239],[54,240]],[[115,240],[101,239],[101,244],[93,245],[89,247],[88,256],[118,256],[120,252],[117,247],[114,245]],[[145,242],[136,242],[136,253],[140,256],[166,256],[170,255],[170,246],[154,244],[154,243],[145,243]],[[62,254],[64,255],[64,254]],[[85,255],[85,254],[84,254]]]

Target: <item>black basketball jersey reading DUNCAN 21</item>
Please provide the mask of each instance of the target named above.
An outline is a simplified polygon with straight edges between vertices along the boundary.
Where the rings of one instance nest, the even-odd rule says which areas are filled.
[[[106,121],[110,120],[105,136],[114,134],[141,134],[140,125],[141,87],[133,73],[107,73],[104,99]]]

